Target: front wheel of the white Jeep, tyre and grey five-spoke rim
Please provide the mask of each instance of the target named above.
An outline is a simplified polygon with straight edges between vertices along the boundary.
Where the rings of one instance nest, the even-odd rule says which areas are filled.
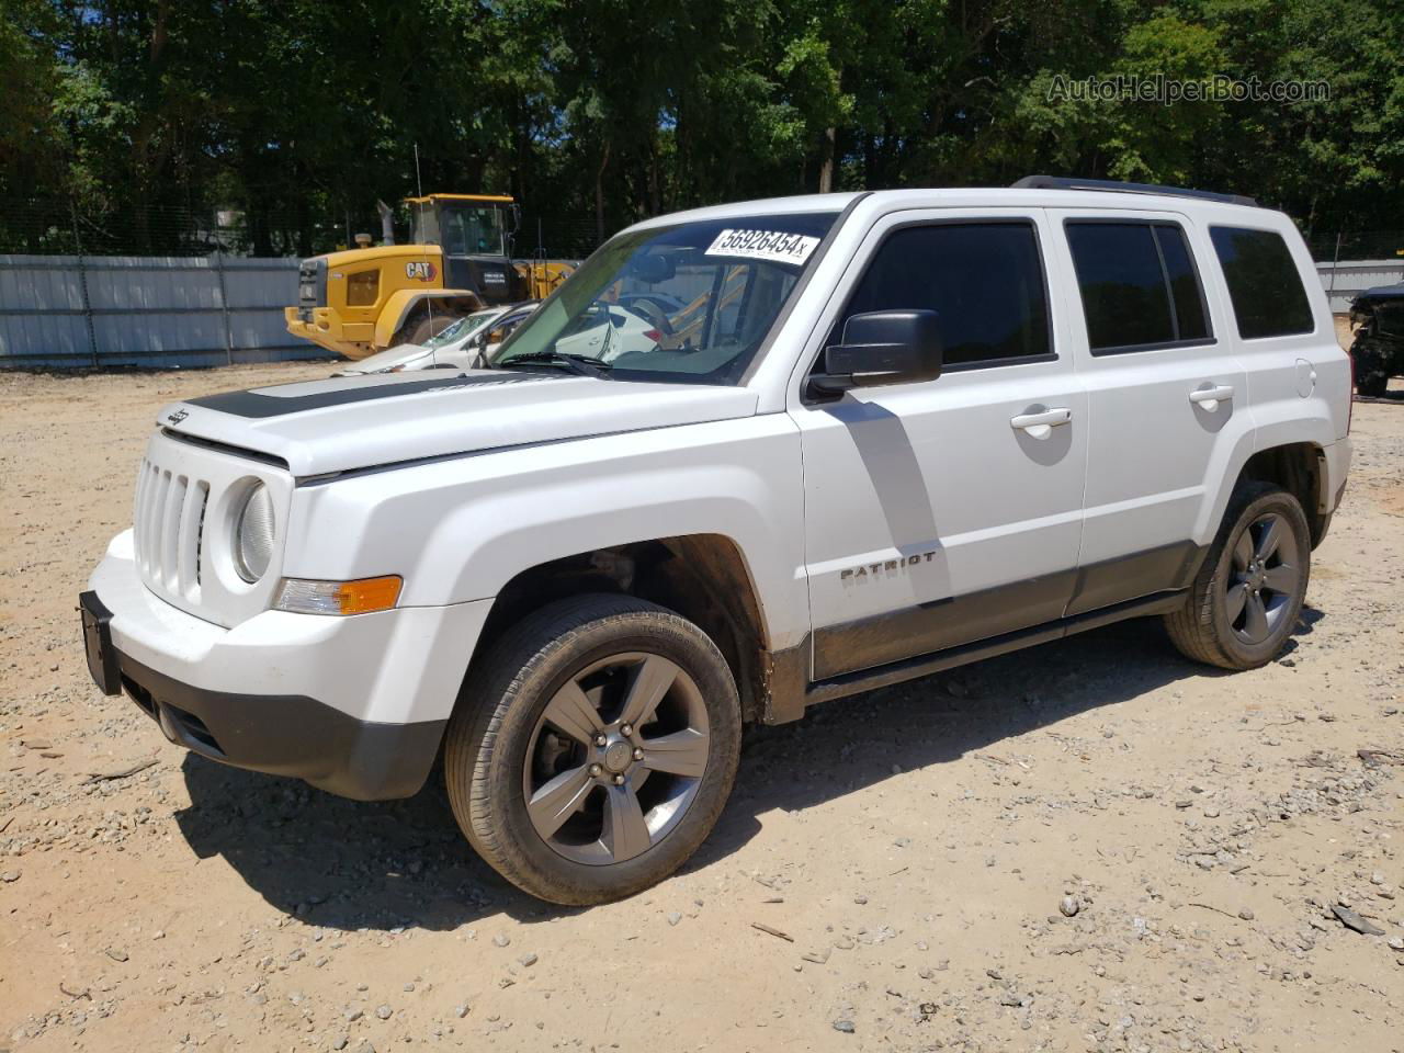
[[[740,740],[731,671],[698,626],[632,597],[573,597],[510,629],[470,677],[445,779],[498,873],[552,903],[604,903],[696,851]]]

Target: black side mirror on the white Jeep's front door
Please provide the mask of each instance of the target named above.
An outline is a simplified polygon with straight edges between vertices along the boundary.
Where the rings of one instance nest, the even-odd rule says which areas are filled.
[[[824,350],[826,395],[849,388],[941,376],[941,323],[934,310],[870,310],[844,324],[844,343]]]

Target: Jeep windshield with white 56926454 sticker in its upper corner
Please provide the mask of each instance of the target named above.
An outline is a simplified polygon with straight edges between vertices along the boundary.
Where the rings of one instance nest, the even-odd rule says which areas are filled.
[[[590,359],[614,379],[740,380],[837,212],[734,216],[619,234],[493,357]]]

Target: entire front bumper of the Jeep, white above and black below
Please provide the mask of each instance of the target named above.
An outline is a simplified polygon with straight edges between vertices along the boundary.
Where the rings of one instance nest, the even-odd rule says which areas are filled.
[[[88,584],[86,637],[91,657],[91,623],[104,623],[107,653],[90,661],[104,689],[125,691],[188,750],[359,800],[424,785],[490,607],[265,611],[223,629],[146,590],[131,532]]]

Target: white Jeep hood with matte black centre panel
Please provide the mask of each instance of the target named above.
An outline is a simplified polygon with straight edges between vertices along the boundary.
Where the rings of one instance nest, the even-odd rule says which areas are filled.
[[[746,388],[633,383],[556,372],[379,373],[166,406],[157,424],[286,462],[295,476],[609,435],[755,413]]]

